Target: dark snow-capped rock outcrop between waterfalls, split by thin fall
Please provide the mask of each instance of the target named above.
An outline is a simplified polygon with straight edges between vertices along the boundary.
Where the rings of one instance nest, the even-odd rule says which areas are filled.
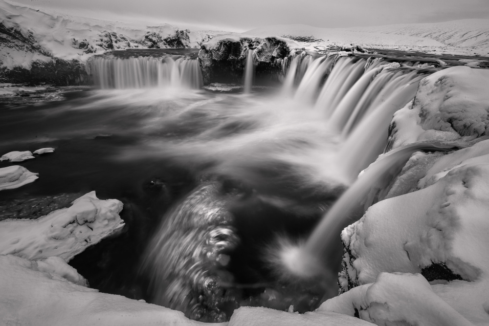
[[[255,38],[241,34],[226,34],[202,44],[199,52],[204,84],[240,83],[248,50],[253,50],[255,84],[279,81],[282,64],[296,43],[279,37]]]

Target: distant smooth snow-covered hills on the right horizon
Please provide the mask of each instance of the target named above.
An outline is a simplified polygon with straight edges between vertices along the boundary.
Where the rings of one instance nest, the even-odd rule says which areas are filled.
[[[320,28],[303,24],[270,25],[245,33],[256,36],[286,36],[299,41],[300,38],[309,38],[309,43],[313,45],[359,43],[370,48],[397,48],[427,53],[489,53],[489,20],[484,19],[349,28]]]

